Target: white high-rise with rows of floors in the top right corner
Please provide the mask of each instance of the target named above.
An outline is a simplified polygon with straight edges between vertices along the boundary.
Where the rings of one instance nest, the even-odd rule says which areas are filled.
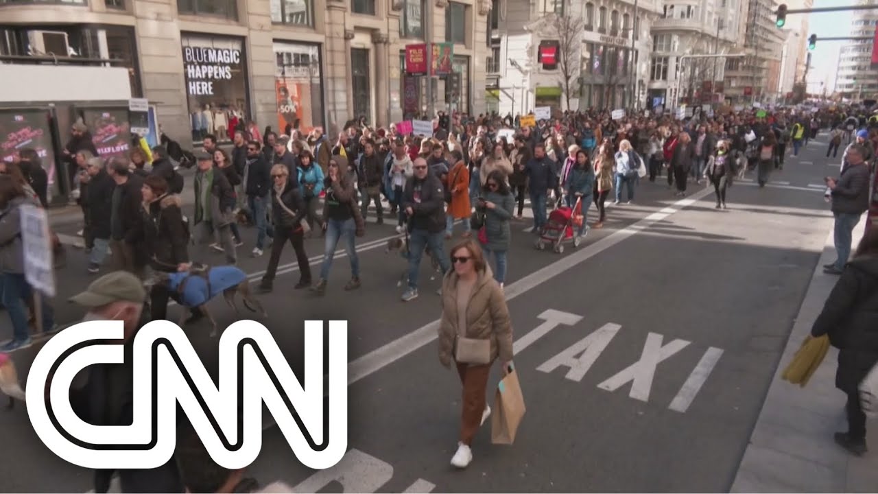
[[[858,0],[860,5],[878,5],[878,0]],[[878,25],[878,9],[853,11],[851,36],[868,40],[850,41],[841,48],[835,91],[853,99],[878,98],[878,69],[872,69],[872,43]]]

